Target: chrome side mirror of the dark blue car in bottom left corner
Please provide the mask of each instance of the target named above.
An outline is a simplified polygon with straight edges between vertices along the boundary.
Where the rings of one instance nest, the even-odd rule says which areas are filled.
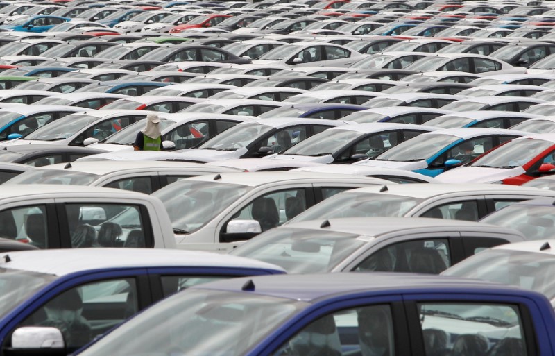
[[[5,355],[54,355],[65,356],[64,337],[57,328],[24,326],[12,334],[12,347],[4,350]]]

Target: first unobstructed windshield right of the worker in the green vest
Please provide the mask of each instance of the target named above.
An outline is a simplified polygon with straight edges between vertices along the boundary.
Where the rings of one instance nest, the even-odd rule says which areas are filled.
[[[225,130],[225,135],[217,135],[199,146],[199,149],[212,149],[220,151],[235,151],[246,147],[250,142],[273,130],[272,126],[254,122],[239,124]]]

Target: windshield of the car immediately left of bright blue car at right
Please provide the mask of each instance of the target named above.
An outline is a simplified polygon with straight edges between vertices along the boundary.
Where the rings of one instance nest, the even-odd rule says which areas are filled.
[[[352,140],[361,136],[361,133],[351,130],[325,130],[312,137],[299,142],[287,151],[284,155],[308,155],[320,156],[338,153],[340,149],[349,144]]]

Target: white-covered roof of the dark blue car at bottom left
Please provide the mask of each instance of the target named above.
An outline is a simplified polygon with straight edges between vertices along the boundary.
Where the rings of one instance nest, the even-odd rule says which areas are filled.
[[[69,248],[9,252],[0,256],[0,267],[65,276],[69,273],[101,269],[148,268],[162,266],[203,266],[246,269],[280,267],[248,258],[165,248]],[[6,256],[9,256],[6,257]],[[9,260],[9,262],[6,262]]]

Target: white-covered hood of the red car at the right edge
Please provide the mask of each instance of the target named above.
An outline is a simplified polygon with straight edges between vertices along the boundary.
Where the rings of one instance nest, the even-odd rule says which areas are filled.
[[[493,183],[506,178],[520,176],[522,167],[509,169],[488,167],[459,167],[436,176],[442,183]]]

